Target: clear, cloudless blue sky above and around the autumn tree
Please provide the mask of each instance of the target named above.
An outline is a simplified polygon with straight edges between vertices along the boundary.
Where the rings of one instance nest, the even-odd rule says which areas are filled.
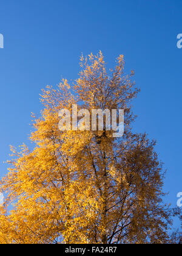
[[[39,113],[39,93],[62,77],[78,77],[79,55],[99,49],[109,67],[124,54],[141,93],[134,102],[134,129],[157,139],[165,163],[167,202],[182,191],[181,0],[1,0],[0,176],[9,145],[30,144],[30,112]]]

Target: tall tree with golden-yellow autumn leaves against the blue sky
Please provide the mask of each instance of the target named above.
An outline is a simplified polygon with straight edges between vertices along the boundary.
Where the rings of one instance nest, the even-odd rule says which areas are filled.
[[[169,243],[170,211],[163,205],[164,172],[155,141],[132,132],[130,102],[138,89],[120,55],[106,72],[103,54],[81,57],[70,87],[42,90],[44,110],[20,152],[11,148],[1,180],[0,243]],[[124,109],[124,135],[112,130],[58,129],[60,109]],[[105,123],[104,123],[105,124]]]

